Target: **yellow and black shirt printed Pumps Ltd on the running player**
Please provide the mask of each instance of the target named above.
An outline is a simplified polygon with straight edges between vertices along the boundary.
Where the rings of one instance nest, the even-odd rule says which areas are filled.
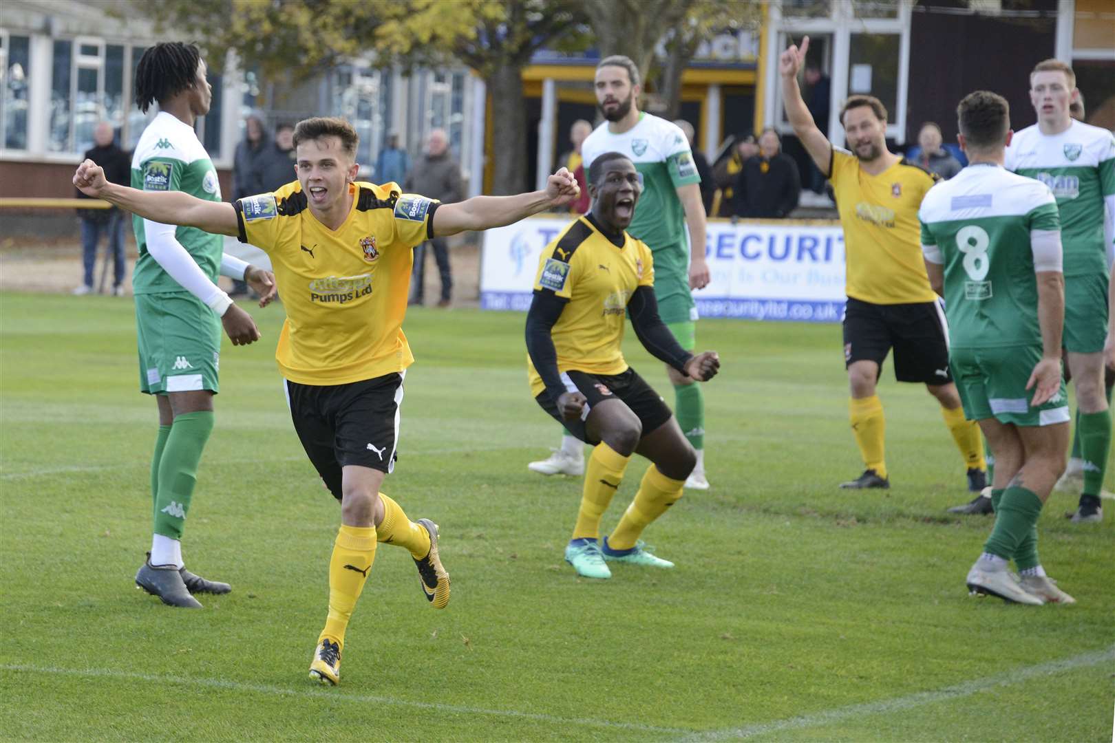
[[[414,362],[403,316],[411,248],[433,236],[438,203],[397,184],[349,184],[334,229],[314,218],[298,182],[236,202],[240,242],[271,257],[287,322],[275,359],[300,384],[347,384]]]

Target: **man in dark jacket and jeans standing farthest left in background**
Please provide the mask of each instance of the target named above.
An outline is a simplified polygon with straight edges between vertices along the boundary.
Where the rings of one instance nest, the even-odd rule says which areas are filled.
[[[95,146],[86,150],[85,158],[105,168],[105,178],[122,186],[132,185],[132,158],[114,141],[113,125],[99,123],[93,130]],[[80,190],[78,198],[89,198]],[[110,209],[78,209],[81,219],[81,261],[85,264],[85,280],[74,290],[75,294],[93,291],[93,271],[97,263],[97,243],[101,233],[108,239],[108,251],[113,254],[113,295],[124,293],[124,221],[126,215],[115,206]]]

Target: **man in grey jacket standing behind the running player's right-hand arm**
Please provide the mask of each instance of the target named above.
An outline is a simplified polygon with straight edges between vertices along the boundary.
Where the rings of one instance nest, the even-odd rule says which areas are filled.
[[[460,201],[460,166],[449,151],[449,140],[444,129],[434,129],[426,140],[426,151],[415,160],[403,186],[407,192],[437,198],[443,204]],[[453,294],[453,274],[449,270],[449,251],[444,237],[435,237],[415,248],[414,284],[410,304],[421,304],[425,284],[426,246],[433,245],[437,271],[442,275],[442,299],[437,306],[449,306]]]

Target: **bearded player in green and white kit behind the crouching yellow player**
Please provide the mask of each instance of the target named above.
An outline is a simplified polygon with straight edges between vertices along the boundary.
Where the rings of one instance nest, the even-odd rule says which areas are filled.
[[[688,351],[696,348],[697,306],[691,290],[709,281],[705,260],[705,205],[700,176],[689,139],[673,123],[639,110],[639,68],[627,57],[600,60],[595,72],[597,104],[604,123],[581,145],[585,174],[604,153],[622,153],[642,177],[642,197],[628,232],[655,254],[655,295],[662,322]],[[689,239],[686,238],[686,227]],[[686,438],[697,451],[697,466],[686,487],[708,489],[705,476],[705,398],[699,384],[670,364],[673,409]],[[530,468],[543,475],[580,475],[583,446],[569,433],[554,456]]]

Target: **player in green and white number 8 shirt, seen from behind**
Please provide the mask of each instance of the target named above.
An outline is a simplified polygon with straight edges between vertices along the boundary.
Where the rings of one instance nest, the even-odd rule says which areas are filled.
[[[979,422],[995,454],[995,528],[967,584],[1019,604],[1072,604],[1037,549],[1038,516],[1068,444],[1057,203],[1045,184],[1002,167],[1011,131],[1001,96],[977,90],[957,115],[968,167],[929,192],[919,217],[929,280],[949,313],[964,414]],[[1011,559],[1020,580],[1008,569]]]

